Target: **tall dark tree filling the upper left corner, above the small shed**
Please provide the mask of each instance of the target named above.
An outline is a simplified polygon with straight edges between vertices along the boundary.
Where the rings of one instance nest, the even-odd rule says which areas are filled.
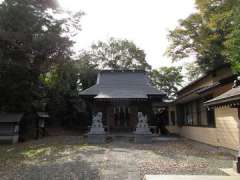
[[[0,108],[6,111],[29,110],[38,99],[39,76],[71,60],[73,41],[65,34],[70,21],[81,14],[57,19],[49,2],[53,1],[5,0],[0,4],[0,94],[5,96],[0,98]]]

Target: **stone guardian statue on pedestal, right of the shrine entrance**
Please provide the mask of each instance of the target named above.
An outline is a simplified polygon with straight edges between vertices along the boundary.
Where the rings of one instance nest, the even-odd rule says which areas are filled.
[[[152,142],[152,133],[148,127],[147,116],[144,116],[142,112],[138,112],[138,123],[134,135],[136,143]]]

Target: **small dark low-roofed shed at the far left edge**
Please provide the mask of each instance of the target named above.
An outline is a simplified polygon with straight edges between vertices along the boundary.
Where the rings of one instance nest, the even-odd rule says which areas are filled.
[[[17,143],[23,113],[0,113],[0,143]]]

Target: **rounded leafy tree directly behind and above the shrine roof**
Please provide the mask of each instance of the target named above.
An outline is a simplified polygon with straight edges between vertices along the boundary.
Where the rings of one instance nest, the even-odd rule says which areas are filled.
[[[133,42],[110,38],[107,42],[93,44],[91,50],[84,52],[93,64],[100,69],[141,69],[150,70],[146,54]]]

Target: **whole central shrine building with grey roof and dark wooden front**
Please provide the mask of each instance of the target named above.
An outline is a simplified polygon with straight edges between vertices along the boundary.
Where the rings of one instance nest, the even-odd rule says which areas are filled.
[[[138,112],[147,116],[153,132],[158,129],[157,114],[158,119],[168,118],[166,94],[154,88],[147,72],[141,70],[100,71],[96,84],[82,91],[80,97],[91,107],[92,114],[102,112],[108,132],[133,132]]]

